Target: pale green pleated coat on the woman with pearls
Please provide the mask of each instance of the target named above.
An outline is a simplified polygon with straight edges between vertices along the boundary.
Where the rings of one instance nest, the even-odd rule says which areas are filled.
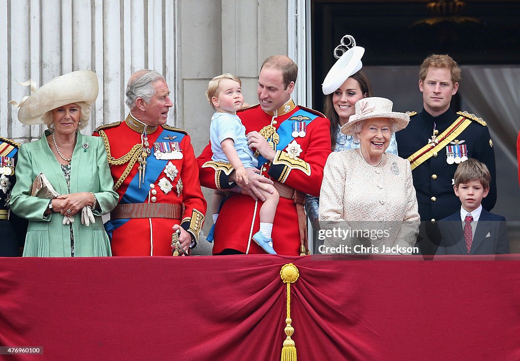
[[[17,182],[11,192],[11,210],[29,220],[25,236],[24,256],[70,257],[70,226],[63,225],[60,213],[44,215],[49,200],[31,196],[33,180],[43,172],[60,194],[68,194],[67,182],[47,143],[45,132],[40,140],[23,144],[18,152]],[[86,148],[86,149],[84,149]],[[118,203],[107,161],[107,151],[101,137],[77,134],[70,173],[70,193],[93,192],[99,203],[94,210],[95,223],[81,224],[81,212],[74,216],[75,256],[110,256],[110,241],[101,215],[112,211]]]

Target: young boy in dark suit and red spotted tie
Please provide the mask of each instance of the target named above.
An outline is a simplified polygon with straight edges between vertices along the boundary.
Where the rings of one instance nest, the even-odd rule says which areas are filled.
[[[459,212],[438,222],[441,239],[436,254],[509,253],[505,218],[482,208],[489,182],[486,164],[473,158],[459,164],[453,190],[462,205]]]

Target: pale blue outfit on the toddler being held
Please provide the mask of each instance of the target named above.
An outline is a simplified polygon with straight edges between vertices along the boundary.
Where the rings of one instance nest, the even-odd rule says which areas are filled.
[[[215,112],[211,117],[210,140],[213,159],[217,162],[229,163],[220,143],[224,139],[230,138],[235,142],[240,161],[244,168],[256,168],[258,160],[253,155],[248,146],[248,139],[245,137],[245,126],[236,114]]]

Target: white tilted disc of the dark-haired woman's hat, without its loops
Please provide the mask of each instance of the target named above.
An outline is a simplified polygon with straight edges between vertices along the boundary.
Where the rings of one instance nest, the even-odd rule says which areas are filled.
[[[343,84],[349,76],[357,73],[363,67],[361,58],[365,54],[365,48],[354,46],[337,59],[325,77],[321,89],[323,94],[329,95]]]

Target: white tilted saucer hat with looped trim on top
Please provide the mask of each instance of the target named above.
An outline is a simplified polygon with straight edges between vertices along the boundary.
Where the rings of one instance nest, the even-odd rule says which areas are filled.
[[[344,35],[340,45],[334,48],[336,63],[329,70],[325,77],[321,89],[323,94],[329,95],[334,92],[347,80],[347,78],[361,70],[363,63],[361,58],[365,54],[365,48],[356,46],[356,41],[352,35]]]

